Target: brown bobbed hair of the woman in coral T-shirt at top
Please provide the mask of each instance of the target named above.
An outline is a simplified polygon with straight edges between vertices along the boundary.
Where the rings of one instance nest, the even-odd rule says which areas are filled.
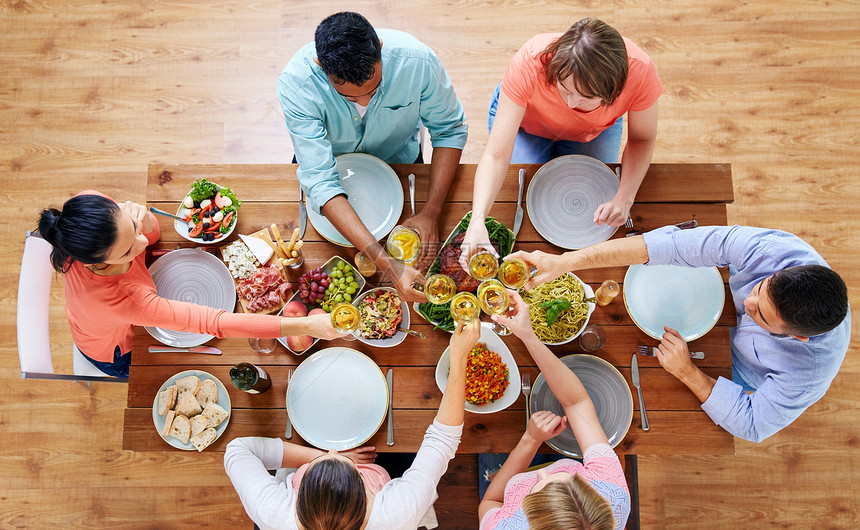
[[[627,82],[627,46],[621,34],[596,18],[584,18],[541,52],[546,83],[573,76],[574,88],[586,98],[612,105]]]

